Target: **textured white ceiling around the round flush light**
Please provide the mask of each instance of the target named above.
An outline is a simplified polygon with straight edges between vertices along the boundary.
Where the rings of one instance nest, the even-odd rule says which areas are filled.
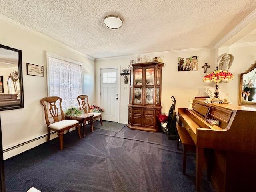
[[[0,14],[94,58],[213,46],[255,0],[1,0]],[[123,19],[110,30],[109,14]]]

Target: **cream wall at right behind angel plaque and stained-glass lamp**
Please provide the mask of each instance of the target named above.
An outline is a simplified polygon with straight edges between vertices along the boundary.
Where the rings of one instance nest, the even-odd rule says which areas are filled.
[[[226,52],[234,56],[233,64],[228,70],[234,75],[234,80],[228,83],[221,83],[220,90],[229,94],[232,104],[238,105],[240,76],[256,61],[256,44],[233,44],[229,47],[219,48],[219,55]]]

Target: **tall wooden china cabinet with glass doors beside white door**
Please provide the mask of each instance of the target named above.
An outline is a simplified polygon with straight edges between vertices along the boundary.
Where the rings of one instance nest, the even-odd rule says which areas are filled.
[[[128,127],[158,132],[157,116],[161,114],[162,67],[164,63],[130,64],[130,101]]]

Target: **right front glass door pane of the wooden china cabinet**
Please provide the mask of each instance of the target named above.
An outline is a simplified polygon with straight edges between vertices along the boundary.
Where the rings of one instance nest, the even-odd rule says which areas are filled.
[[[146,68],[145,104],[154,104],[154,68]]]

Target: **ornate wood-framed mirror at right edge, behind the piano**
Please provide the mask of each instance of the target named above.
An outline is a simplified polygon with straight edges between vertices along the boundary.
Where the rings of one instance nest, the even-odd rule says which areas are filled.
[[[241,74],[239,105],[256,108],[256,62]]]

